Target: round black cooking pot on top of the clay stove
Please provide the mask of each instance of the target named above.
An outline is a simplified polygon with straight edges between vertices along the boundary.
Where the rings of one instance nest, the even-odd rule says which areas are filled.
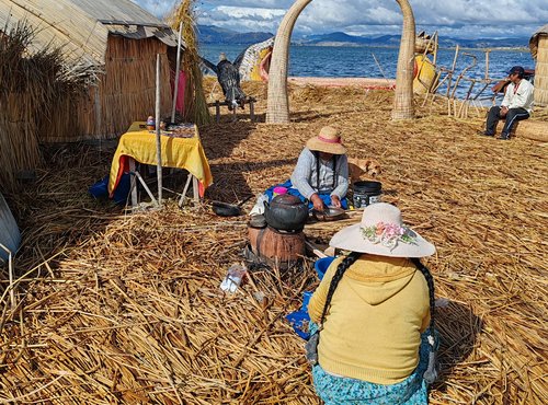
[[[264,201],[266,223],[279,231],[300,231],[308,219],[308,204],[289,194],[275,196],[269,204]]]

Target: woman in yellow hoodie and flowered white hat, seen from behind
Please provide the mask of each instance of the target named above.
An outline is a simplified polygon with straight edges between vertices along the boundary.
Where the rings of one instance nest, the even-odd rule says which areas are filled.
[[[434,245],[386,202],[367,206],[361,223],[330,245],[351,253],[333,261],[308,304],[318,395],[336,405],[427,404],[436,374],[434,285],[419,257]]]

